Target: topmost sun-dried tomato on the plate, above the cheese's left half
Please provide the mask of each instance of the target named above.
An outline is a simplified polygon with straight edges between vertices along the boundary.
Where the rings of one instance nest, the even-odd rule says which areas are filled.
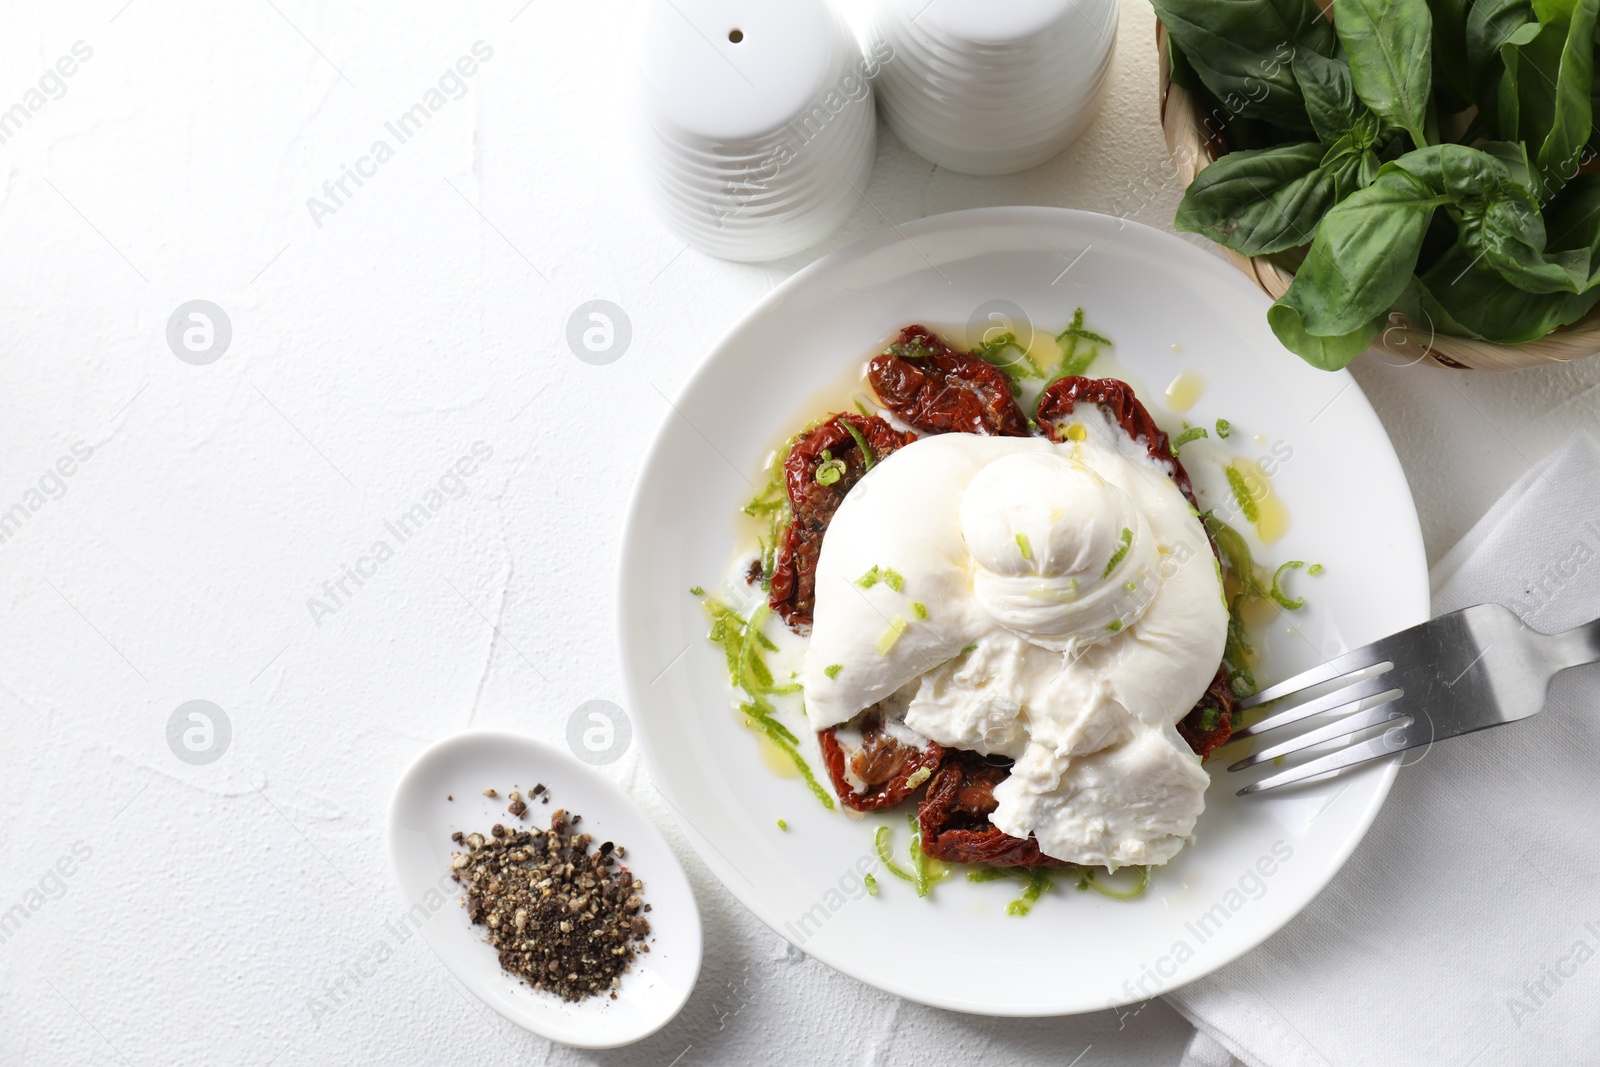
[[[874,357],[867,381],[883,406],[923,434],[1027,437],[1011,379],[987,360],[957,352],[926,326],[906,326]]]

